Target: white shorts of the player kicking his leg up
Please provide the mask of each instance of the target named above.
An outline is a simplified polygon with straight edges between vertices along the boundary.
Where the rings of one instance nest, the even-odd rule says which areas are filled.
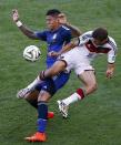
[[[62,60],[67,63],[67,71],[74,70],[77,75],[82,74],[84,71],[93,71],[94,69],[90,65],[90,61],[82,55],[79,49],[73,49],[59,56],[58,60]]]

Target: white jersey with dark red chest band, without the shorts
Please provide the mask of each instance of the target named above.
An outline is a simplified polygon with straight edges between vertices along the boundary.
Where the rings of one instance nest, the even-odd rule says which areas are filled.
[[[92,61],[97,55],[107,53],[108,62],[114,63],[117,54],[117,44],[114,40],[108,37],[108,42],[105,44],[97,46],[92,42],[92,32],[93,31],[85,32],[79,38],[78,49],[82,52],[82,55]]]

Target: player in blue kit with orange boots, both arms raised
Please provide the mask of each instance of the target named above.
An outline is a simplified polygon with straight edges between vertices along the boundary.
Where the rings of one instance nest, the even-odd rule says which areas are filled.
[[[70,42],[71,37],[80,35],[80,31],[69,23],[62,25],[63,22],[67,22],[65,15],[57,9],[49,10],[46,14],[48,30],[38,32],[31,31],[22,24],[19,20],[18,10],[13,10],[12,15],[13,21],[17,23],[18,28],[26,34],[28,38],[33,40],[42,40],[48,44],[48,54],[47,54],[47,68],[52,66],[57,61],[57,58],[51,56],[52,53],[59,52],[63,45]],[[44,142],[46,137],[46,126],[48,121],[48,105],[47,102],[51,96],[61,89],[67,81],[69,80],[70,72],[61,72],[53,79],[47,79],[41,81],[39,77],[36,79],[29,86],[21,90],[18,93],[19,97],[24,97],[32,106],[38,108],[38,132],[30,137],[27,137],[27,141],[30,142]],[[39,90],[31,94],[32,90]],[[40,97],[38,97],[38,95]]]

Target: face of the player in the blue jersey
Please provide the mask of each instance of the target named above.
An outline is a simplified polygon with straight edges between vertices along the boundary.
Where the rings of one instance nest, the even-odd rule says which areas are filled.
[[[54,30],[59,27],[59,19],[57,17],[47,15],[47,27],[50,30]]]

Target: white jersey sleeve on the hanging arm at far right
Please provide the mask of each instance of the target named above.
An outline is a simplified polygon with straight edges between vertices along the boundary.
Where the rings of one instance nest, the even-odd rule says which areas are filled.
[[[108,62],[109,63],[114,63],[115,62],[115,56],[117,56],[117,44],[114,41],[110,41],[111,50],[108,53]]]

